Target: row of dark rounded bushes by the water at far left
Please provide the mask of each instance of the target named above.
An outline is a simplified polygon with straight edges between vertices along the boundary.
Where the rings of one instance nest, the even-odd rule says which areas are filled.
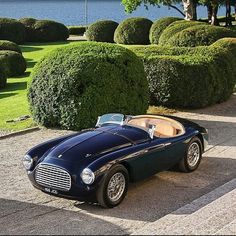
[[[0,39],[17,44],[27,42],[64,41],[69,37],[69,31],[61,23],[49,20],[23,18],[19,21],[10,18],[0,18]]]

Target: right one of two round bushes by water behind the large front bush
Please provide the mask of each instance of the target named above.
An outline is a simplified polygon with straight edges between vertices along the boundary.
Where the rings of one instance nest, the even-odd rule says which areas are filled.
[[[114,35],[114,41],[120,44],[150,44],[149,31],[152,21],[133,17],[121,22]]]

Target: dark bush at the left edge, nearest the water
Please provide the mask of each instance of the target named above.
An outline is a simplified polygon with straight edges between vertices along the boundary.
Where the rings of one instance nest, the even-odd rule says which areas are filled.
[[[0,39],[20,44],[25,41],[25,27],[15,19],[0,18]]]

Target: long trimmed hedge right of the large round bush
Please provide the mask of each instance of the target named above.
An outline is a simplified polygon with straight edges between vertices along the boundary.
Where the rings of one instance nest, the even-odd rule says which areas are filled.
[[[236,83],[236,39],[202,47],[130,47],[144,62],[150,105],[200,108],[227,100]]]

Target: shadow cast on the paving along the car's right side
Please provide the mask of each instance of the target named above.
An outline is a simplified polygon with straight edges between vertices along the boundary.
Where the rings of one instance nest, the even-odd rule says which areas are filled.
[[[205,157],[192,173],[167,171],[142,182],[130,184],[125,200],[116,208],[76,202],[89,213],[153,222],[236,177],[236,160]]]

